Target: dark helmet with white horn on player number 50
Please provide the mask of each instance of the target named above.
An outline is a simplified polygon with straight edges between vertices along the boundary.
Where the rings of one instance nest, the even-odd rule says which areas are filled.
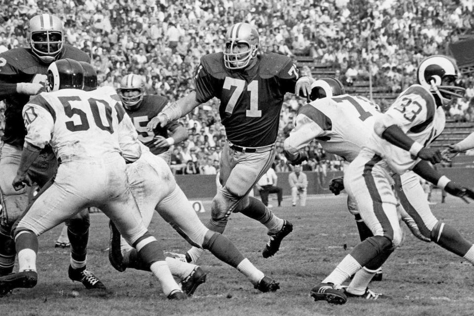
[[[57,60],[48,67],[47,90],[82,89],[84,80],[82,66],[78,61],[65,58]]]

